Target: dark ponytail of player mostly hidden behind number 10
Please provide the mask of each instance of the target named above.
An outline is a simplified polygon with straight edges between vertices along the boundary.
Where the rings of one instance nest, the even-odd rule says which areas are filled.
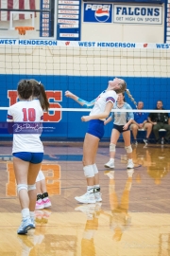
[[[43,84],[34,79],[31,79],[30,82],[32,83],[32,86],[33,86],[32,97],[39,99],[42,109],[45,111],[48,111],[49,102],[47,100]]]

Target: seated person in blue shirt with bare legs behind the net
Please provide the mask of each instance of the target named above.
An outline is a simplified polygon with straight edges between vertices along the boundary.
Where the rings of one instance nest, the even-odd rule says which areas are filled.
[[[139,101],[137,109],[143,109],[144,108],[144,102]],[[137,135],[138,135],[138,130],[139,129],[144,129],[146,130],[146,136],[144,138],[144,143],[148,143],[148,138],[152,132],[152,124],[147,121],[147,113],[143,112],[135,112],[134,113],[134,120],[132,120],[132,123],[130,125],[130,130],[132,131],[133,137],[134,137],[134,144],[138,144],[137,141]]]

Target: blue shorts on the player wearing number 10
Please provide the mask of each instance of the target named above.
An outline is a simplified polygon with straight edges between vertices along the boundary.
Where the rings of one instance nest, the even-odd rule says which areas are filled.
[[[31,153],[31,152],[16,152],[12,154],[13,156],[20,158],[26,162],[38,164],[42,162],[43,153]]]

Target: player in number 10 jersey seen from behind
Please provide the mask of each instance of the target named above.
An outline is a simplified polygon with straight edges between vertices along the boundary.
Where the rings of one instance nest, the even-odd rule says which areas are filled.
[[[17,91],[20,101],[8,108],[7,120],[13,122],[12,125],[15,126],[17,123],[41,122],[43,119],[42,108],[47,111],[49,107],[42,83],[32,84],[30,81],[22,80],[18,83]],[[35,99],[35,97],[37,98]],[[35,182],[43,157],[40,133],[14,133],[12,155],[22,209],[22,223],[17,233],[26,234],[28,229],[35,228],[34,210],[37,198]]]

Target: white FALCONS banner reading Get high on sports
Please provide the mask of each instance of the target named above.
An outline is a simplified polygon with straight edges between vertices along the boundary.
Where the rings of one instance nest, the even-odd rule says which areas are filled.
[[[162,7],[113,5],[113,23],[161,25]]]

